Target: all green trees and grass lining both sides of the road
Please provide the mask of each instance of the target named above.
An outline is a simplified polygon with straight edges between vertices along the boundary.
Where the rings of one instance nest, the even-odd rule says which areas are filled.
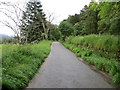
[[[120,1],[91,2],[79,14],[54,25],[46,20],[41,2],[29,0],[21,21],[20,36],[5,39],[0,45],[3,89],[27,86],[50,52],[51,41],[44,39],[62,40],[77,56],[120,83]]]

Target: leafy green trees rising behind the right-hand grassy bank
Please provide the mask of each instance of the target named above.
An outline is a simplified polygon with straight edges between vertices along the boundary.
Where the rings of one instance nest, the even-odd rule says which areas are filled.
[[[63,39],[88,34],[120,35],[120,2],[91,2],[59,25]]]

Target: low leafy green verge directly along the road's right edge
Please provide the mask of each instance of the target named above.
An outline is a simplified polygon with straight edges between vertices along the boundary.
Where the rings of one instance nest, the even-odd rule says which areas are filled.
[[[77,47],[73,44],[65,42],[62,42],[62,44],[89,64],[95,65],[97,69],[107,72],[112,77],[113,83],[120,84],[120,62],[116,58],[102,57],[96,54],[97,51]]]

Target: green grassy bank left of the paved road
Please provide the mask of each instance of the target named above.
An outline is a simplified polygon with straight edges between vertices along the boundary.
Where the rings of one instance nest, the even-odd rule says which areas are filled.
[[[22,89],[50,52],[51,41],[33,45],[2,45],[2,87]]]

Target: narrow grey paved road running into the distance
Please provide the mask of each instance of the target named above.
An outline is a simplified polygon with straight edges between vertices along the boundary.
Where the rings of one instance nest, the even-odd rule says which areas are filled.
[[[59,42],[27,88],[112,88],[104,78],[83,64]]]

